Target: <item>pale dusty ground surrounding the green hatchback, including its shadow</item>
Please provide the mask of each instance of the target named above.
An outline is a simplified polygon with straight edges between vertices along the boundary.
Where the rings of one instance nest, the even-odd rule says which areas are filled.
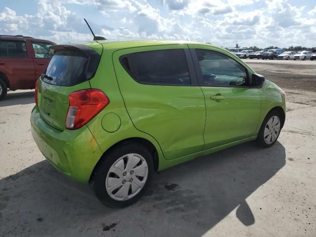
[[[164,170],[124,209],[102,206],[42,157],[30,132],[34,92],[9,92],[0,102],[0,237],[315,237],[316,62],[245,61],[287,93],[276,144]]]

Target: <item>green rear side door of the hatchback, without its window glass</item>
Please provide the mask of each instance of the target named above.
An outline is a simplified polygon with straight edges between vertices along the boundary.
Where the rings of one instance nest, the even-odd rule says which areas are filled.
[[[188,49],[188,46],[178,44],[119,50],[113,54],[113,62],[119,89],[133,124],[157,140],[166,159],[174,159],[199,152],[204,146],[205,102],[200,87],[141,84],[119,62],[121,55],[162,49]]]

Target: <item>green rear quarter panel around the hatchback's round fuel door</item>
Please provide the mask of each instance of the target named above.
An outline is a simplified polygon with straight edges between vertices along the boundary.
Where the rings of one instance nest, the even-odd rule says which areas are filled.
[[[99,44],[99,46],[102,44]],[[94,49],[98,45],[87,45]],[[102,50],[96,50],[102,52]],[[158,142],[149,134],[137,130],[126,111],[123,98],[119,91],[118,81],[112,63],[112,54],[115,50],[103,50],[98,70],[94,77],[89,80],[91,88],[102,90],[110,99],[110,104],[104,108],[96,117],[87,123],[88,128],[96,139],[102,153],[118,142],[129,138],[143,138],[151,142],[157,150],[159,164],[164,162]],[[106,131],[106,127],[113,127],[116,121],[107,120],[107,124],[102,122],[104,118],[111,114],[115,114],[119,118],[119,127],[114,132]],[[105,120],[103,120],[105,121]],[[112,123],[112,124],[111,124]],[[101,157],[100,157],[101,158]]]

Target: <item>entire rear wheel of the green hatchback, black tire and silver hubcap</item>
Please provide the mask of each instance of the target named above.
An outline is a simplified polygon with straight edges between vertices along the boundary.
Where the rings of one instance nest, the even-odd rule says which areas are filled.
[[[138,143],[125,143],[99,161],[89,184],[102,204],[112,208],[125,207],[144,194],[153,172],[150,152]]]

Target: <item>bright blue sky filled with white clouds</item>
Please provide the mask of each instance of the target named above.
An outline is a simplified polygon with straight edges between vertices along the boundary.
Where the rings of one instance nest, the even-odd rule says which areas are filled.
[[[27,3],[26,3],[27,2]],[[0,34],[316,47],[316,0],[0,0]]]

